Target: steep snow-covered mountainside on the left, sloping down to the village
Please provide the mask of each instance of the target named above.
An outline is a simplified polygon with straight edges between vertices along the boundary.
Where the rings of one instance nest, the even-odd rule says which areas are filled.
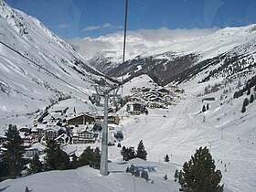
[[[88,101],[91,84],[103,79],[35,17],[0,2],[1,129],[14,119],[26,124],[58,100]]]

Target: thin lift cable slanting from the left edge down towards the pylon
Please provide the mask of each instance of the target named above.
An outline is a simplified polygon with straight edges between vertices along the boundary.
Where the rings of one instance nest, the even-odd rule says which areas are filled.
[[[67,80],[63,80],[61,78],[59,78],[57,75],[55,75],[53,72],[49,71],[48,69],[45,69],[44,67],[42,67],[41,65],[37,64],[37,62],[33,61],[32,59],[27,58],[24,54],[22,54],[21,52],[17,51],[15,48],[11,48],[10,46],[6,45],[4,42],[0,41],[0,43],[2,45],[4,45],[6,48],[11,49],[12,51],[16,52],[16,54],[18,54],[19,56],[21,56],[22,58],[25,58],[27,60],[29,60],[30,62],[32,62],[33,64],[35,64],[39,69],[44,69],[45,71],[47,71],[50,75],[54,76],[55,78],[62,80],[63,82],[65,82],[66,84],[68,84],[71,88],[73,88],[76,91],[81,92],[82,94],[90,97],[91,95],[89,95],[88,93],[81,91],[79,88],[77,88],[76,86],[72,85],[71,83],[69,83]],[[94,104],[93,104],[94,106]],[[95,108],[95,112],[97,112],[96,107]]]

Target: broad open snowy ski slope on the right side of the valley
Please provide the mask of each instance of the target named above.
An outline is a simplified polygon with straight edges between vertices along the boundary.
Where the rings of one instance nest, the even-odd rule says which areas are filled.
[[[123,144],[135,147],[142,139],[150,161],[163,161],[167,154],[176,165],[183,165],[200,146],[208,146],[227,189],[254,191],[256,101],[250,102],[246,112],[241,112],[243,101],[251,95],[245,91],[234,99],[234,94],[246,87],[247,82],[252,85],[248,80],[255,77],[255,70],[232,78],[222,72],[223,77],[198,83],[207,70],[179,85],[186,93],[180,95],[176,105],[124,118]],[[127,82],[123,89],[131,86],[136,87]],[[256,96],[255,85],[251,94]],[[208,105],[206,112],[202,112],[204,105],[206,108]]]

